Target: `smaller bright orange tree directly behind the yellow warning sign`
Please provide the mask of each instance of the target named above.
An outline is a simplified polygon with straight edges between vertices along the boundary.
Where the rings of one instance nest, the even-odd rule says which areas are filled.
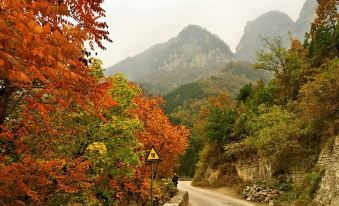
[[[144,149],[152,145],[162,159],[158,166],[159,177],[171,175],[179,156],[188,146],[189,131],[184,126],[172,125],[160,108],[161,99],[141,97],[137,100],[137,114],[144,123],[144,131],[138,134]]]

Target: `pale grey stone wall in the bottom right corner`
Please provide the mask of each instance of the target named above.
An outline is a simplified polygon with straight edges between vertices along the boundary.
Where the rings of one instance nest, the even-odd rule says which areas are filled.
[[[325,169],[324,177],[315,197],[317,205],[339,205],[339,136],[333,146],[325,147],[319,155],[318,166]]]

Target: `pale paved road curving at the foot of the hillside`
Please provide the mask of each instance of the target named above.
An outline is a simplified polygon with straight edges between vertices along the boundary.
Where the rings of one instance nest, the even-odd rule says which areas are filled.
[[[180,181],[178,188],[188,191],[191,206],[254,206],[218,192],[191,186],[190,181]]]

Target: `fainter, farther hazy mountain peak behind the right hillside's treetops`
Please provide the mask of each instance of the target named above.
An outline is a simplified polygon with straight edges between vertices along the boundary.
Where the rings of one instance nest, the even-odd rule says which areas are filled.
[[[236,48],[236,59],[255,62],[255,51],[263,47],[260,35],[271,38],[280,36],[284,46],[289,45],[289,32],[303,41],[305,33],[310,30],[316,7],[317,0],[307,0],[296,22],[279,11],[268,12],[248,22]]]

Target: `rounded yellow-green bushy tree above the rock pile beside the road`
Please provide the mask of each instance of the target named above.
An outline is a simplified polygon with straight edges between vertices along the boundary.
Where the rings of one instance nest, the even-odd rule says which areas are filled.
[[[250,134],[244,140],[244,148],[254,150],[259,158],[270,160],[274,175],[286,175],[291,166],[300,165],[302,161],[307,167],[317,158],[318,150],[302,141],[308,137],[306,125],[281,106],[261,105],[259,115],[249,121]]]

